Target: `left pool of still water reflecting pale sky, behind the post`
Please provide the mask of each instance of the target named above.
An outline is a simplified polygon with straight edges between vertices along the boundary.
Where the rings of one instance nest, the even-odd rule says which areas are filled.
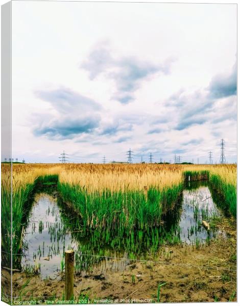
[[[45,193],[35,195],[24,236],[21,265],[30,271],[33,265],[40,268],[42,277],[58,272],[65,249],[75,245],[60,218],[57,198]]]

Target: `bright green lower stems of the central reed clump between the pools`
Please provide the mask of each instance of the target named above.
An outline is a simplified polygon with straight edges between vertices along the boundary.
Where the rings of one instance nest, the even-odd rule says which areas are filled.
[[[63,201],[79,214],[84,228],[125,228],[143,230],[160,225],[162,211],[177,201],[182,185],[164,189],[150,187],[143,190],[125,190],[89,193],[79,185],[58,183]]]

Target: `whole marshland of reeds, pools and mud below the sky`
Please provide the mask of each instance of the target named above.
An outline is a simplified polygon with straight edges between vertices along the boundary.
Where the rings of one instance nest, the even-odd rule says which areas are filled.
[[[12,168],[15,299],[64,300],[64,251],[72,248],[77,300],[236,298],[236,165]],[[10,203],[11,172],[4,164],[6,275]]]

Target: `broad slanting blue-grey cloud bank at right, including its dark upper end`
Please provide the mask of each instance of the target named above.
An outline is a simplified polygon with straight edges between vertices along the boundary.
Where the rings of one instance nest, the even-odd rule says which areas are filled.
[[[236,94],[236,66],[228,75],[216,75],[209,86],[186,93],[181,89],[173,94],[165,106],[170,107],[169,115],[177,118],[175,130],[182,131],[195,124],[205,122],[218,123],[224,120],[234,120],[236,115],[235,100],[218,104],[218,98],[230,97]],[[228,105],[227,105],[228,103]],[[176,115],[175,115],[176,114]]]

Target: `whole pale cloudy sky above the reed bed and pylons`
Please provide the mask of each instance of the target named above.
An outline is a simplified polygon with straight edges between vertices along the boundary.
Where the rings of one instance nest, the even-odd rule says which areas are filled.
[[[13,157],[236,161],[236,5],[13,2]]]

